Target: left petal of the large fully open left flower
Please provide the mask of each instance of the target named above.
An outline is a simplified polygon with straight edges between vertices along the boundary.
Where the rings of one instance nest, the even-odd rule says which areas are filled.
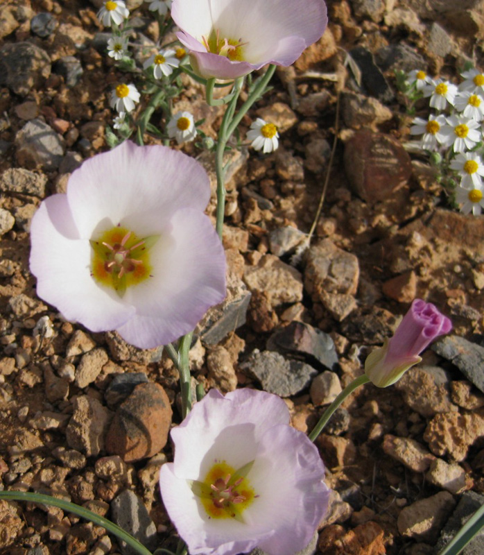
[[[47,198],[35,212],[31,245],[37,294],[64,318],[101,332],[113,330],[134,314],[135,309],[121,302],[114,290],[104,291],[93,280],[92,249],[87,239],[79,239],[66,195]]]

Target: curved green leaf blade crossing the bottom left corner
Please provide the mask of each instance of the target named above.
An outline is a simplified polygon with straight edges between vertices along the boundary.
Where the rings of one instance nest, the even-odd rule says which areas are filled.
[[[79,505],[71,503],[69,501],[64,501],[64,499],[57,499],[57,497],[51,497],[50,495],[44,495],[43,493],[31,493],[26,491],[0,491],[0,499],[10,499],[12,501],[29,501],[33,503],[43,503],[46,505],[51,505],[54,507],[58,507],[62,509],[62,511],[66,511],[67,513],[74,513],[75,515],[80,516],[81,518],[85,518],[94,522],[98,526],[102,526],[108,532],[117,536],[123,542],[126,542],[132,549],[135,549],[135,552],[139,553],[140,555],[152,555],[144,545],[139,543],[139,541],[133,538],[128,532],[124,531],[122,528],[107,520],[102,516],[89,511],[89,509],[85,509]]]

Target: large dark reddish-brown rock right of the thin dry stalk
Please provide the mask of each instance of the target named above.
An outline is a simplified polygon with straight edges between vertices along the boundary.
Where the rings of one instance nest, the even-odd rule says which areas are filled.
[[[356,194],[374,203],[391,198],[405,187],[412,163],[397,139],[358,131],[345,144],[345,171]]]

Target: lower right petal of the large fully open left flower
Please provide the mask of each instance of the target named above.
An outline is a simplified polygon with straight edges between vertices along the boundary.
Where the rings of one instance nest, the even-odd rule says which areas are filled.
[[[184,208],[157,232],[161,237],[150,248],[153,278],[127,289],[124,300],[136,307],[136,315],[117,329],[142,348],[190,332],[209,307],[225,298],[225,253],[208,216]]]

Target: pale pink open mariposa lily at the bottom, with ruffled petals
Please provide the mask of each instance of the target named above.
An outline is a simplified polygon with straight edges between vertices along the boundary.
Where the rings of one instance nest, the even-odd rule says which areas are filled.
[[[294,555],[309,544],[329,490],[318,449],[288,424],[277,395],[212,389],[171,431],[175,460],[159,486],[191,555]]]

